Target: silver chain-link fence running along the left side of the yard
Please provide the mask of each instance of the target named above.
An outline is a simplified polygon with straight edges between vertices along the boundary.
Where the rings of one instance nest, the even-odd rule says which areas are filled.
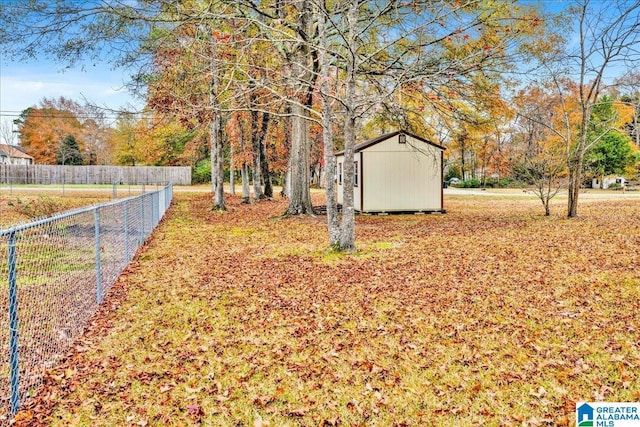
[[[82,333],[172,199],[169,184],[0,229],[0,425]]]

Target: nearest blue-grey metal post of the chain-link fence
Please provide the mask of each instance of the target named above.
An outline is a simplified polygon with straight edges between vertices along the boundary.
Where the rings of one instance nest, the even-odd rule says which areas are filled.
[[[16,233],[9,234],[9,364],[11,366],[11,414],[20,407],[20,362],[18,349],[18,282],[16,277]]]

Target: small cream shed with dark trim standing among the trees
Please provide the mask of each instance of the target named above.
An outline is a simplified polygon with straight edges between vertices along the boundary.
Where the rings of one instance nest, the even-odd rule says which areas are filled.
[[[404,131],[355,146],[354,207],[361,213],[444,212],[445,148]],[[337,197],[344,196],[344,152],[336,153]]]

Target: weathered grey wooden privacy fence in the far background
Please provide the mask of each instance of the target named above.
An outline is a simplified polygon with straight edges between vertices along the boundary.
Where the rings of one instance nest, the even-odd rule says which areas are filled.
[[[0,164],[0,184],[191,185],[189,166],[54,166]]]

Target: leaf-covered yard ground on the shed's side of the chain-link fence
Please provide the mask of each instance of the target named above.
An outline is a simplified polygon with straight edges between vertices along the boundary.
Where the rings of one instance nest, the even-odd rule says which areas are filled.
[[[17,425],[569,426],[640,400],[637,201],[452,196],[358,217],[354,254],[286,201],[174,203]]]

